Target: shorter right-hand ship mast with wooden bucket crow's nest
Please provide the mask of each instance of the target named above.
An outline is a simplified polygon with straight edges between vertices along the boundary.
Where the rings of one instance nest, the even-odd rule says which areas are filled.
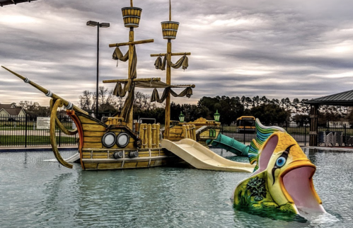
[[[166,84],[171,83],[171,56],[173,55],[191,55],[190,52],[182,52],[182,53],[173,53],[172,52],[172,40],[175,40],[176,33],[178,32],[179,23],[172,21],[172,13],[171,13],[171,3],[169,0],[169,21],[162,21],[162,33],[163,39],[168,40],[167,42],[167,52],[161,54],[151,54],[151,57],[158,57],[158,56],[166,56],[167,59],[167,67],[166,67]],[[169,139],[169,130],[170,130],[170,93],[166,98],[166,123],[164,127],[164,139]]]

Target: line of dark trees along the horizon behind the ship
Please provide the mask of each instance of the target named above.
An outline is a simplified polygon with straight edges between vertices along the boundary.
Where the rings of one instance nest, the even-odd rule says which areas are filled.
[[[310,105],[306,104],[307,99],[299,100],[294,98],[269,99],[266,96],[204,96],[197,104],[170,104],[170,120],[179,120],[180,113],[185,115],[185,121],[205,118],[214,119],[214,113],[218,111],[221,115],[220,121],[224,124],[231,124],[243,115],[253,115],[265,125],[295,121],[298,125],[308,123]],[[98,113],[103,115],[114,115],[122,110],[125,100],[114,96],[112,90],[100,86],[98,89]],[[50,108],[42,107],[37,102],[21,101],[19,103],[26,113],[35,116],[49,116]],[[164,122],[164,104],[151,102],[151,96],[137,91],[134,100],[134,118],[155,118],[157,122]],[[85,90],[79,96],[79,108],[96,113],[96,92]],[[319,124],[326,121],[349,120],[353,123],[353,113],[345,106],[320,106]]]

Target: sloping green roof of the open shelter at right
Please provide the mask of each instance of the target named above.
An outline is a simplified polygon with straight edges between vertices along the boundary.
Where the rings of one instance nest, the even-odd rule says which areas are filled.
[[[353,106],[353,90],[314,98],[306,103],[311,105]]]

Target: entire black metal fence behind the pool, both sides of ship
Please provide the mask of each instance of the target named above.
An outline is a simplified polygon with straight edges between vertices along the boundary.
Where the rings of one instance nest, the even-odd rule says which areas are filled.
[[[74,122],[67,115],[59,116],[60,122],[68,130],[73,130]],[[296,139],[301,146],[307,146],[309,142],[309,125],[295,122],[284,122],[279,127],[284,128],[289,135]],[[353,136],[353,129],[343,123],[329,124],[325,127],[318,127],[319,132],[342,132],[343,143],[347,144],[347,139]],[[255,132],[238,132],[236,125],[221,125],[221,134],[236,139],[243,144],[250,144],[256,138]],[[65,135],[56,129],[58,147],[76,145],[78,135]],[[50,132],[48,129],[38,129],[37,118],[30,115],[23,117],[9,117],[0,115],[0,147],[28,147],[28,146],[50,146]]]

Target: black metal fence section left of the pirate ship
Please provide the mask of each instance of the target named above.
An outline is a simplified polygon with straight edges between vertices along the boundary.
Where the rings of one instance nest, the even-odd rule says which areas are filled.
[[[76,126],[68,116],[59,117],[67,130]],[[56,129],[57,146],[77,144],[77,135],[65,135]],[[38,129],[37,118],[30,115],[8,116],[0,115],[0,147],[50,146],[49,129]]]

